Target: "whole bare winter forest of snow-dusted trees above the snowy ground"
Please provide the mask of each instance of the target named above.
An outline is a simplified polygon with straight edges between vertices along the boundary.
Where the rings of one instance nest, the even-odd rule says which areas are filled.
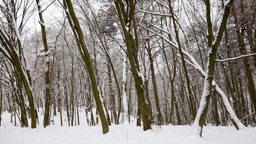
[[[0,127],[254,127],[255,45],[255,0],[0,0]]]

